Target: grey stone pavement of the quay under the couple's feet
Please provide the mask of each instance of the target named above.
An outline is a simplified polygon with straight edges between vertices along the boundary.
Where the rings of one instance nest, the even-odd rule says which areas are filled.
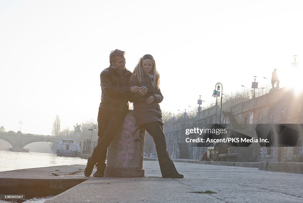
[[[258,168],[175,163],[183,179],[161,178],[157,161],[143,161],[144,178],[84,177],[85,165],[60,166],[59,176],[47,170],[36,178],[79,179],[78,185],[46,201],[58,202],[303,202],[303,174],[261,171]],[[23,169],[26,170],[26,169]],[[29,170],[29,169],[28,169]],[[93,173],[96,169],[94,169]],[[30,170],[32,171],[32,170]],[[69,173],[66,173],[69,171]],[[78,171],[73,174],[73,171]],[[5,175],[6,173],[6,175]],[[13,172],[0,172],[2,178]],[[19,173],[20,174],[20,173]],[[4,176],[5,175],[5,176]],[[26,174],[19,175],[26,178]],[[0,183],[1,185],[1,183]],[[214,191],[215,194],[195,192]]]

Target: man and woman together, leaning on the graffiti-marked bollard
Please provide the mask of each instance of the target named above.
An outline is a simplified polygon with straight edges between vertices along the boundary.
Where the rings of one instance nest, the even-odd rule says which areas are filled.
[[[90,176],[96,165],[94,177],[104,176],[107,148],[128,112],[129,100],[134,104],[137,124],[154,138],[162,177],[183,178],[166,149],[159,105],[163,96],[159,89],[155,60],[152,55],[144,55],[131,73],[125,68],[124,54],[119,49],[112,51],[109,55],[110,66],[100,74],[102,94],[98,112],[99,138],[92,156],[88,158],[84,175]]]

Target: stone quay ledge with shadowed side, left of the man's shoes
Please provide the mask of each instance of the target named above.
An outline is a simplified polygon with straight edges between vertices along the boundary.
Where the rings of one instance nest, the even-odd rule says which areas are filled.
[[[58,195],[89,179],[83,176],[84,167],[85,165],[62,165],[1,171],[0,191],[2,194],[28,196]]]

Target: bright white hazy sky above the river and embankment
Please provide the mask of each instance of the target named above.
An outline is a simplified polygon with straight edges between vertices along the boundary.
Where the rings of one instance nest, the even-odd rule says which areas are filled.
[[[51,135],[97,121],[100,72],[109,53],[126,51],[133,71],[144,54],[161,75],[162,110],[178,113],[223,93],[293,81],[303,57],[302,1],[0,0],[0,126]],[[267,77],[264,80],[263,77]],[[206,106],[207,104],[203,104]]]

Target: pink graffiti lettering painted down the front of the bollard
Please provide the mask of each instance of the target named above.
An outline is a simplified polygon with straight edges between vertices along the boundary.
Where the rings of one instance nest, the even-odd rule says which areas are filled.
[[[132,128],[132,116],[125,116],[125,123],[122,126],[121,139],[119,143],[122,145],[122,151],[118,154],[118,159],[124,158],[123,167],[127,166],[128,160],[133,158],[134,149],[131,149],[132,136],[136,128]]]

